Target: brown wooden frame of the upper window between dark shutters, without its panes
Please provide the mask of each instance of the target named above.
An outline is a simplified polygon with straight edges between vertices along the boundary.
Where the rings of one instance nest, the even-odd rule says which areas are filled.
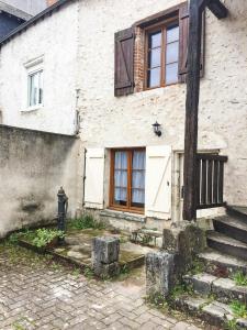
[[[171,84],[166,84],[166,31],[168,25],[171,25],[172,23],[177,23],[179,28],[179,14],[173,15],[172,18],[165,19],[164,21],[148,25],[144,28],[144,33],[145,33],[145,45],[144,45],[144,90],[151,90],[155,88],[162,88],[167,86],[172,86],[179,84],[179,74],[178,74],[178,81],[171,82]],[[158,86],[154,87],[148,87],[147,86],[147,76],[148,76],[148,38],[149,34],[151,32],[161,30],[161,62],[160,62],[160,84]],[[180,35],[179,35],[180,38]],[[178,40],[180,42],[180,40]],[[178,50],[180,52],[180,50]],[[179,66],[179,56],[178,56],[178,66]]]

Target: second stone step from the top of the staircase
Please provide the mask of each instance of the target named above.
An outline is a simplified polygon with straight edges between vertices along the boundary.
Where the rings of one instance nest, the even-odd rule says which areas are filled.
[[[240,242],[247,243],[247,221],[231,216],[213,219],[214,229]]]

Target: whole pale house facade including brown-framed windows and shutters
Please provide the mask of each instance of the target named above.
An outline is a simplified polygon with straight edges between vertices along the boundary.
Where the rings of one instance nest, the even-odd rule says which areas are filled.
[[[246,205],[247,4],[224,3],[229,10],[225,20],[205,12],[199,151],[228,156],[224,199]],[[82,209],[128,229],[179,221],[184,1],[57,4],[60,10],[1,45],[2,123],[80,136]],[[26,77],[35,65],[44,72],[44,102],[26,109]],[[161,135],[154,132],[156,122]]]

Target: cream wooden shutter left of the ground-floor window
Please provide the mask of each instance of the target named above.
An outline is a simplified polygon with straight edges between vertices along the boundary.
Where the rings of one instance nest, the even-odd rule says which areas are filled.
[[[104,148],[88,148],[86,153],[85,206],[103,209]]]

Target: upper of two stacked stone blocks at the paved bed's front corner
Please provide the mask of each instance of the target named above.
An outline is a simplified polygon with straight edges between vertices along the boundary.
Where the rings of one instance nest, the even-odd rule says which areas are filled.
[[[115,238],[94,238],[92,241],[92,260],[96,263],[111,264],[119,261],[120,240]]]

